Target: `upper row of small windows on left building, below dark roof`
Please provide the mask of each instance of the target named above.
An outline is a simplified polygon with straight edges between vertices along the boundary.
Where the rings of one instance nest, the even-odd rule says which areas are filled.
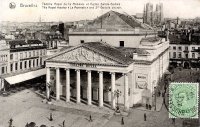
[[[21,53],[15,53],[15,59],[23,59],[23,58],[30,58],[30,57],[36,57],[36,56],[42,56],[46,55],[46,50],[34,50],[29,52],[21,52]],[[14,59],[14,54],[10,54],[10,60]]]

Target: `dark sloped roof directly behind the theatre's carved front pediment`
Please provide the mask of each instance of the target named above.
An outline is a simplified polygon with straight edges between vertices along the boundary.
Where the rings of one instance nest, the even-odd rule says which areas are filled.
[[[67,47],[66,49],[63,48],[61,52],[47,58],[47,61],[50,60],[51,58],[59,56],[65,52],[71,51],[78,47],[88,48],[94,52],[97,52],[97,53],[105,56],[105,57],[113,59],[123,65],[129,65],[133,62],[133,59],[126,56],[126,54],[124,52],[122,52],[119,49],[117,49],[107,43],[104,43],[104,42],[87,42],[87,43],[82,43],[75,47]]]

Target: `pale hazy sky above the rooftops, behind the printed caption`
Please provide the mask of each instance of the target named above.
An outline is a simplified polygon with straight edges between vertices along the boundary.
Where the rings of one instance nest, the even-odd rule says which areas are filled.
[[[16,8],[10,9],[9,3],[15,2]],[[200,17],[200,0],[0,0],[0,21],[76,21],[81,19],[94,19],[97,16],[109,11],[108,9],[97,10],[69,10],[42,9],[42,2],[45,3],[120,3],[122,9],[118,12],[126,12],[130,15],[142,13],[144,4],[151,2],[155,4],[162,2],[164,6],[164,17],[194,18]],[[37,4],[37,7],[22,8],[20,4]]]

